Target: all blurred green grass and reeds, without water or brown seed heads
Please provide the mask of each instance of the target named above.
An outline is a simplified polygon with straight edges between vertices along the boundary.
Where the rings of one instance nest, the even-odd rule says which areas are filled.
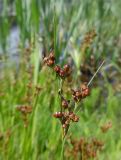
[[[0,15],[0,44],[4,52],[9,45],[7,38],[12,27],[12,18],[7,10],[9,3],[8,0],[3,1]],[[42,67],[42,50],[44,48],[49,52],[53,48],[57,63],[62,63],[60,57],[66,62],[66,58],[71,56],[76,66],[74,68],[77,69],[77,73],[74,71],[75,84],[78,84],[80,65],[83,59],[87,60],[87,55],[91,55],[92,50],[97,59],[111,57],[111,65],[121,73],[116,62],[121,49],[121,2],[15,0],[13,4],[14,18],[20,29],[20,64],[18,70],[13,66],[5,66],[0,74],[0,159],[58,160],[62,150],[62,131],[61,124],[52,116],[60,105],[58,81],[50,68]],[[92,29],[96,30],[97,37],[89,50],[83,53],[81,47],[84,35]],[[33,113],[27,117],[28,127],[24,127],[24,117],[17,110],[19,105],[28,105],[24,101],[30,82],[26,72],[30,66],[24,59],[26,40],[31,44],[34,42],[28,62],[34,65],[30,90]],[[9,50],[7,53],[9,55]],[[108,82],[106,74],[103,71],[104,84],[96,88],[92,85],[91,95],[80,104],[80,121],[71,125],[68,135],[72,134],[77,139],[97,137],[105,143],[99,159],[120,160],[121,100],[120,94],[116,95],[112,84]],[[38,96],[34,96],[36,85],[42,87]],[[107,133],[102,133],[100,127],[108,121],[112,122],[112,128]],[[65,145],[64,151],[66,149]]]

